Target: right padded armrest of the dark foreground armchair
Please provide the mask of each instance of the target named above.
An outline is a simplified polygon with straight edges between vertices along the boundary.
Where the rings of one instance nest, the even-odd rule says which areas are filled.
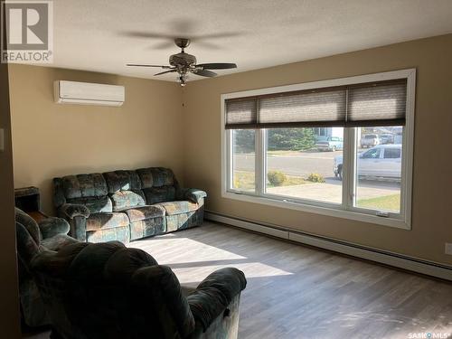
[[[205,331],[246,286],[245,275],[237,268],[218,269],[202,280],[187,297],[196,324]]]

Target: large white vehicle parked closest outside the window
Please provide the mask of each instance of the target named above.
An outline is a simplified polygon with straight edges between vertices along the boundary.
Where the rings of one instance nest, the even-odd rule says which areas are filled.
[[[360,177],[381,177],[400,180],[401,145],[379,145],[358,155],[357,173]],[[334,175],[342,180],[343,156],[334,157]]]

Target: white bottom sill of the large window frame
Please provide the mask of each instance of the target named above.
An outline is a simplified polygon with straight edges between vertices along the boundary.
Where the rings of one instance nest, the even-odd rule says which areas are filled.
[[[342,208],[315,206],[301,202],[290,202],[277,199],[271,199],[268,197],[262,197],[257,195],[251,195],[247,193],[234,193],[234,192],[222,192],[223,198],[238,200],[240,202],[254,202],[268,206],[286,208],[290,210],[311,212],[316,214],[322,214],[332,216],[336,218],[349,219],[353,221],[369,222],[382,226],[394,227],[402,230],[411,230],[410,223],[403,219],[380,217],[377,215],[367,214],[363,212],[346,211]]]

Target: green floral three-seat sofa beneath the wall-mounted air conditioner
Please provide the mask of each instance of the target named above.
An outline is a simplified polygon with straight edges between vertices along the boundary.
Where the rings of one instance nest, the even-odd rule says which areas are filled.
[[[53,179],[53,202],[80,241],[128,242],[202,224],[207,194],[179,187],[169,168]]]

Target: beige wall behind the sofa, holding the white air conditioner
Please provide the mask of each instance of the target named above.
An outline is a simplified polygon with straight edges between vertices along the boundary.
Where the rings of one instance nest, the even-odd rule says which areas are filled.
[[[52,177],[168,166],[183,171],[182,92],[174,82],[12,65],[14,186],[41,189],[52,212]],[[53,80],[124,85],[120,108],[60,105]]]

